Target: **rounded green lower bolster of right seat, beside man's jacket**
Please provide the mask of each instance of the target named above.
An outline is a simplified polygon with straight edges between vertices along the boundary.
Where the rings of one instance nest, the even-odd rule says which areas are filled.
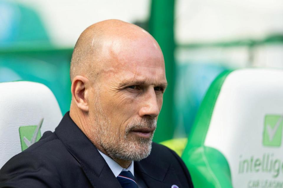
[[[218,150],[206,146],[187,147],[182,159],[195,188],[232,188],[229,164]]]

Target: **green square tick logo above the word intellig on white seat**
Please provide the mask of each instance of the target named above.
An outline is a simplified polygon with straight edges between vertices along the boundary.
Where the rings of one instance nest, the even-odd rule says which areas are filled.
[[[281,145],[282,139],[282,115],[266,115],[264,119],[263,145]]]

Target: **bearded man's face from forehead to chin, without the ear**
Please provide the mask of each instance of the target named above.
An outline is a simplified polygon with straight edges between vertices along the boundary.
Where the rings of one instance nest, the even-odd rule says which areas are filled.
[[[93,139],[112,158],[141,160],[151,151],[167,85],[164,59],[153,40],[105,45],[105,67],[90,104]],[[108,49],[108,50],[107,50]]]

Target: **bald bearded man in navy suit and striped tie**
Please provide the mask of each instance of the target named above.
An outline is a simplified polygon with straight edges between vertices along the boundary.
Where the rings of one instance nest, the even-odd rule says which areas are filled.
[[[75,45],[70,78],[70,113],[4,165],[0,187],[192,187],[180,157],[152,143],[167,81],[149,33],[93,24]]]

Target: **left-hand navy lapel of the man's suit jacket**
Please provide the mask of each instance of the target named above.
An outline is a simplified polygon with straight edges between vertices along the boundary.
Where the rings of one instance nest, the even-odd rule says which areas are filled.
[[[86,177],[95,188],[121,188],[113,172],[96,147],[66,113],[55,134],[67,150],[80,163]]]

